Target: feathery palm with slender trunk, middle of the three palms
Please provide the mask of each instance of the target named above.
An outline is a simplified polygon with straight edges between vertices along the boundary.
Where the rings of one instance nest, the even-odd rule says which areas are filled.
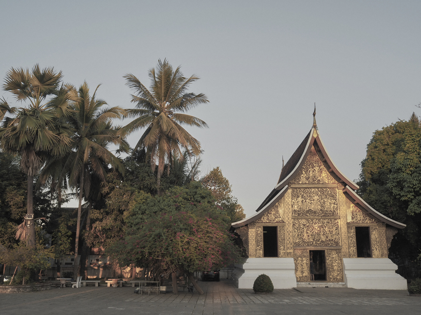
[[[70,123],[75,129],[73,137],[74,149],[67,157],[64,171],[69,176],[69,183],[79,188],[79,205],[77,209],[77,227],[75,240],[75,272],[79,251],[80,216],[82,199],[89,199],[92,177],[97,176],[105,181],[108,165],[123,172],[123,164],[109,151],[109,146],[114,144],[121,151],[128,151],[128,143],[120,135],[120,127],[112,126],[112,119],[121,119],[125,110],[120,107],[103,108],[107,105],[104,100],[96,99],[96,87],[92,96],[89,87],[84,82],[79,90],[78,99],[72,105],[73,114]]]

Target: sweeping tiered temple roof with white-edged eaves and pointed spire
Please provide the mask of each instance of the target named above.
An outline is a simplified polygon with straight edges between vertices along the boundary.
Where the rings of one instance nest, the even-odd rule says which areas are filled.
[[[369,213],[373,217],[377,218],[381,222],[387,223],[391,226],[396,228],[404,228],[406,225],[391,218],[387,218],[386,216],[382,215],[381,213],[374,210],[367,202],[365,202],[360,196],[357,195],[355,190],[359,188],[357,184],[347,178],[339,169],[336,167],[335,163],[333,163],[332,159],[330,158],[327,150],[325,149],[325,145],[322,142],[320,137],[320,133],[317,128],[316,124],[316,109],[314,108],[314,120],[312,129],[309,133],[305,136],[304,140],[298,146],[297,150],[293,153],[290,157],[288,162],[285,166],[282,167],[281,174],[279,176],[279,180],[277,185],[274,187],[272,192],[264,199],[261,205],[257,208],[256,214],[252,215],[249,218],[245,218],[244,220],[232,223],[234,228],[244,226],[254,220],[260,218],[264,213],[273,207],[287,192],[289,182],[300,172],[301,168],[303,167],[307,156],[309,155],[312,147],[318,151],[319,156],[325,165],[326,169],[330,173],[330,175],[336,179],[339,183],[341,183],[344,188],[343,192],[345,196],[355,205],[359,205],[359,207]]]

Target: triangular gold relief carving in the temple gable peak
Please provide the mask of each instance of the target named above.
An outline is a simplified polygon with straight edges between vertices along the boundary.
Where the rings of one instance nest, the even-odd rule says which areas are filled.
[[[317,155],[314,146],[311,148],[303,167],[297,176],[291,181],[293,184],[336,184],[337,181],[330,175],[328,170]]]

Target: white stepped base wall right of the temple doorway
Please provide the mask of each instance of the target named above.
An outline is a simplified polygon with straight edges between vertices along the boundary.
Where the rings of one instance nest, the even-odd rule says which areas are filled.
[[[354,289],[407,290],[389,258],[344,258],[345,285]]]

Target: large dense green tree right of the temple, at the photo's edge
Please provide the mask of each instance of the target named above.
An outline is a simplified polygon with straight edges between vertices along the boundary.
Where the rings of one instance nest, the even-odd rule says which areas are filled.
[[[407,225],[398,231],[389,249],[399,272],[407,278],[421,272],[416,262],[421,240],[419,126],[413,114],[409,121],[398,121],[373,133],[367,156],[361,162],[357,191],[380,213]]]

